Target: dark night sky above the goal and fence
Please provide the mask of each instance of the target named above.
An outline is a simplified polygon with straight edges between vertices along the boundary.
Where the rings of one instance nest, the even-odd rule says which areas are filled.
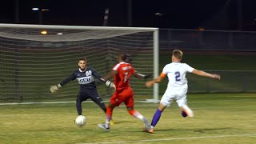
[[[42,24],[102,26],[104,11],[109,8],[108,26],[128,26],[128,0],[17,1],[18,12],[15,0],[2,1],[1,23],[38,24],[38,11],[31,10],[38,6],[49,9],[42,12]],[[255,0],[132,0],[132,26],[256,30],[255,6]]]

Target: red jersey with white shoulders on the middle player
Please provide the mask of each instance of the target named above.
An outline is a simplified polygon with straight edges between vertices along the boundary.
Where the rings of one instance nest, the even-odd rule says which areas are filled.
[[[112,70],[117,70],[118,74],[114,75],[114,85],[116,90],[124,90],[130,86],[130,76],[134,74],[134,67],[130,63],[120,62]]]

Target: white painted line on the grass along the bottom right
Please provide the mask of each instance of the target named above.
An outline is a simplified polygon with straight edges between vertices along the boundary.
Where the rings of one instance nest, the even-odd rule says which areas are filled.
[[[116,142],[90,142],[90,143],[79,143],[79,144],[104,144],[104,143],[130,143],[130,142],[158,142],[158,141],[173,141],[173,140],[185,140],[185,139],[200,139],[200,138],[226,138],[226,137],[245,137],[245,136],[256,136],[254,134],[234,134],[234,135],[216,135],[216,136],[203,136],[203,137],[187,137],[187,138],[159,138],[159,139],[144,139],[138,141],[116,141]]]

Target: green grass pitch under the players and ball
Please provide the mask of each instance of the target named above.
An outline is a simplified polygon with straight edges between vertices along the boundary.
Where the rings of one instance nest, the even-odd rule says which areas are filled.
[[[109,133],[98,123],[105,115],[94,103],[84,102],[86,126],[74,125],[75,103],[0,106],[0,143],[254,143],[256,94],[189,94],[194,118],[182,118],[174,102],[162,113],[154,134],[142,132],[142,122],[125,106],[114,110]],[[151,120],[158,104],[136,102]]]

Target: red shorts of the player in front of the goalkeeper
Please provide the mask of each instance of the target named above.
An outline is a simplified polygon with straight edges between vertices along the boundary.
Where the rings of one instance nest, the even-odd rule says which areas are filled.
[[[122,102],[127,107],[134,106],[134,90],[128,87],[126,90],[115,91],[110,98],[110,103],[114,106],[119,106]]]

